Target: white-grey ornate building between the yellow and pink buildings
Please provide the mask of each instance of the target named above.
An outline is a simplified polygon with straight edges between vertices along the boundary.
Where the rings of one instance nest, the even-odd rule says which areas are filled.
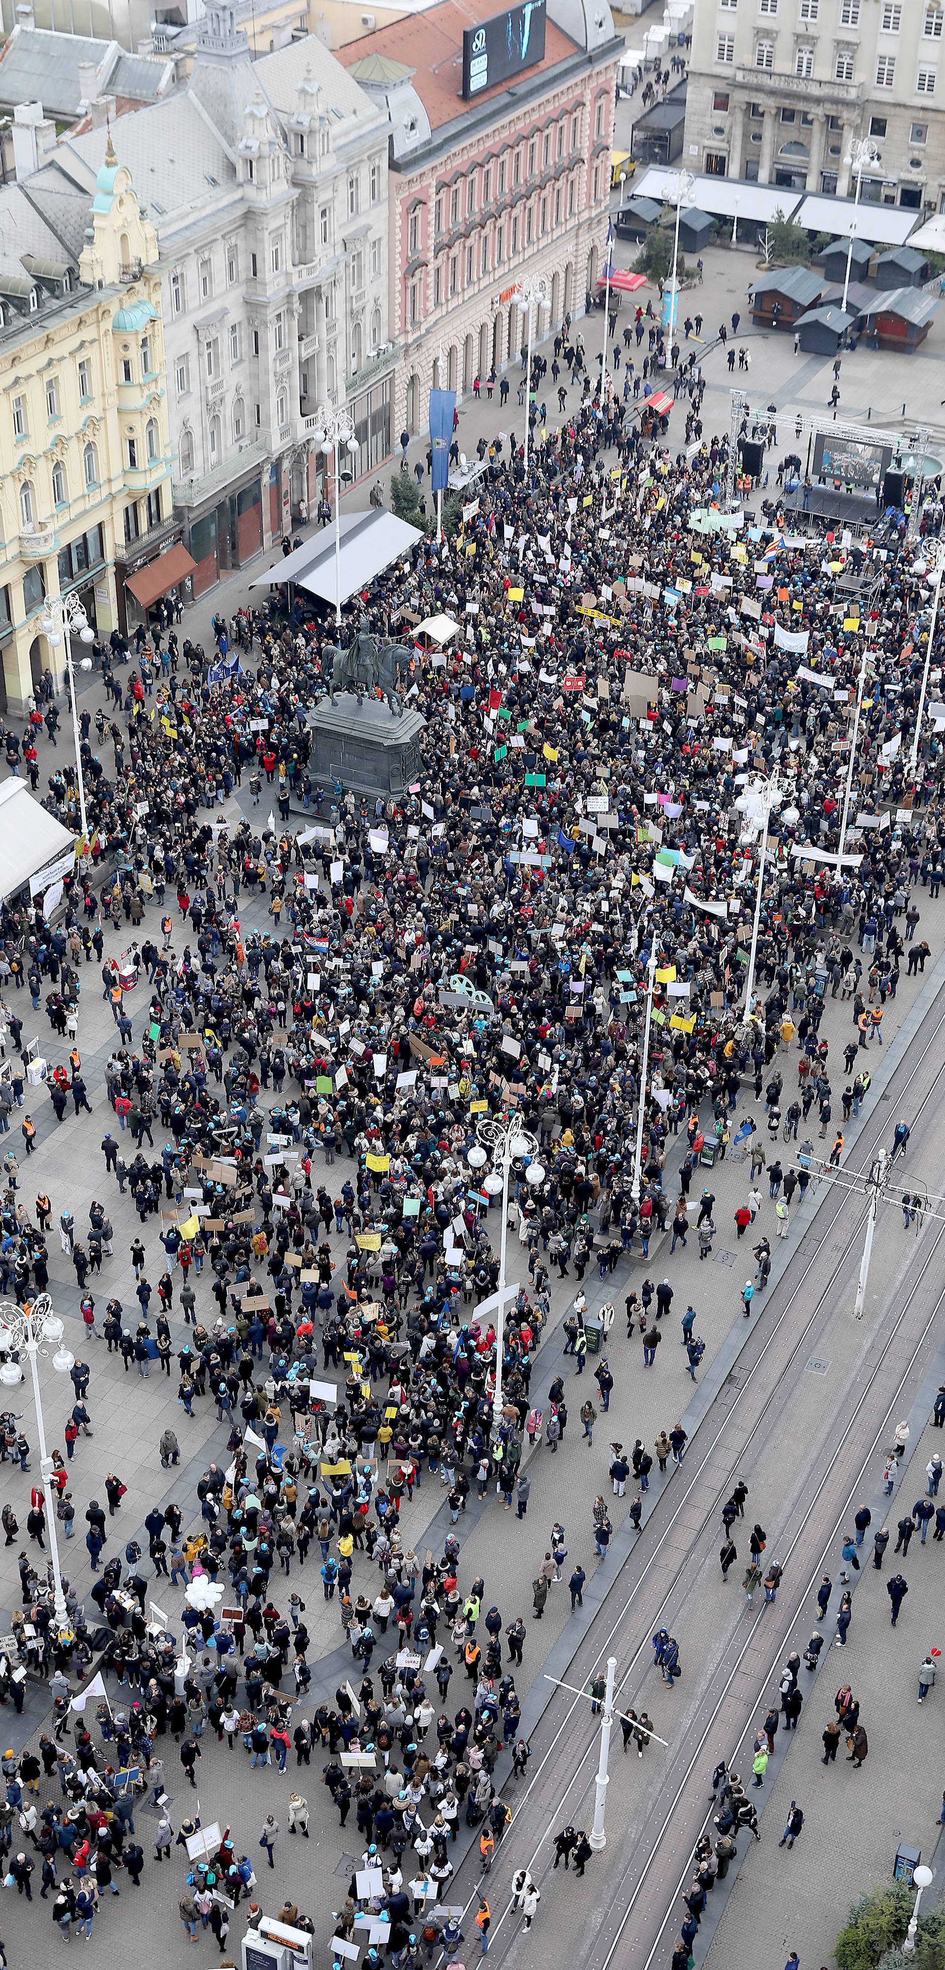
[[[73,132],[24,181],[63,242],[104,146],[106,130]],[[122,116],[120,146],[159,244],[193,597],[305,520],[325,398],[352,408],[354,477],[390,453],[388,122],[319,39],[252,61],[217,6],[187,89]]]

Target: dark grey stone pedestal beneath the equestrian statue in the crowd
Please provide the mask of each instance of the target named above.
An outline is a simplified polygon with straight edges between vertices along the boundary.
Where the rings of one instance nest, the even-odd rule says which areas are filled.
[[[335,703],[325,697],[309,713],[309,778],[321,786],[341,780],[352,794],[404,794],[419,780],[419,711],[396,717],[378,697],[358,703],[345,691]]]

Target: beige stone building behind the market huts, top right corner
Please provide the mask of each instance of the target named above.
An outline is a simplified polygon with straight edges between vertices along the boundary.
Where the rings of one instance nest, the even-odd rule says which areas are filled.
[[[701,0],[685,162],[847,197],[850,142],[870,138],[864,199],[943,209],[943,20],[937,0]]]

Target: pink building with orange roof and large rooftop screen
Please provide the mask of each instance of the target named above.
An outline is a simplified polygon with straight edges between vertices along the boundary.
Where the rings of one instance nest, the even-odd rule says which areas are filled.
[[[463,396],[518,357],[524,276],[547,280],[541,333],[583,311],[620,51],[606,0],[441,0],[337,51],[390,116],[394,433],[423,429],[433,382]]]

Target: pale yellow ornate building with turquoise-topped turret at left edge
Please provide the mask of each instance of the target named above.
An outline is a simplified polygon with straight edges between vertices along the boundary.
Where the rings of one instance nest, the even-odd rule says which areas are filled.
[[[39,193],[39,183],[35,185]],[[41,621],[75,595],[102,640],[193,567],[171,506],[154,227],[112,146],[85,242],[0,191],[0,709],[63,678]],[[73,246],[73,250],[69,250]],[[169,552],[167,552],[169,550]],[[154,567],[161,556],[159,569]]]

